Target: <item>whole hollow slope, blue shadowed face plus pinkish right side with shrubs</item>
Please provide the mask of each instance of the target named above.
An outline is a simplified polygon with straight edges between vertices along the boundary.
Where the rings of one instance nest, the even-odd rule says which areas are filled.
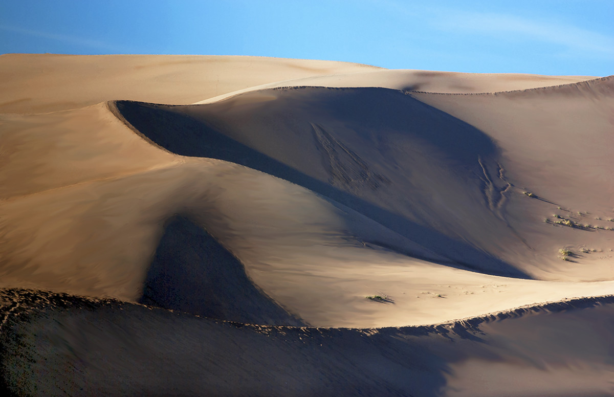
[[[614,277],[612,256],[586,252],[614,249],[612,81],[495,94],[295,87],[117,107],[160,147],[298,183],[453,266],[600,281]],[[561,261],[566,249],[575,258]]]

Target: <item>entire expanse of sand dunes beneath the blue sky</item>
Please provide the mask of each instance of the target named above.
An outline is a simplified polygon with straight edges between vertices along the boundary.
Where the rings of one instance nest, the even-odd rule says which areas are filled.
[[[614,77],[0,75],[3,395],[614,395]]]

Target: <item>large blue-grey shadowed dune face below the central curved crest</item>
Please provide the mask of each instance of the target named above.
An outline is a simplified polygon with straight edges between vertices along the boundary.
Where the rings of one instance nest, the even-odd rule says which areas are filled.
[[[173,153],[297,183],[453,266],[527,277],[502,260],[506,242],[522,244],[505,223],[507,185],[484,186],[486,172],[499,173],[499,149],[481,131],[401,91],[291,88],[208,105],[115,106],[139,134]]]

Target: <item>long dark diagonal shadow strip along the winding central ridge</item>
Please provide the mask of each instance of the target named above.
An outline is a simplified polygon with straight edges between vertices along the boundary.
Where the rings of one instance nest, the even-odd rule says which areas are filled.
[[[405,96],[403,93],[399,94]],[[405,96],[405,98],[406,100],[416,101],[408,96]],[[426,105],[421,104],[421,106]],[[432,252],[453,258],[451,261],[440,261],[441,264],[446,266],[495,276],[530,278],[526,273],[514,268],[511,264],[476,249],[467,242],[453,239],[435,229],[419,225],[390,210],[367,202],[355,194],[341,190],[330,183],[317,180],[281,163],[281,161],[258,152],[258,150],[228,137],[216,128],[212,128],[205,121],[195,120],[195,118],[182,113],[182,110],[184,110],[182,108],[185,107],[190,106],[164,106],[133,101],[118,101],[111,104],[114,113],[124,120],[128,126],[131,126],[136,133],[169,152],[184,156],[230,161],[301,185],[340,202],[372,220],[376,220],[381,225]],[[439,110],[436,111],[440,112]],[[443,112],[441,113],[443,114]],[[450,119],[452,117],[447,114],[443,118],[443,120]],[[454,119],[454,121],[462,123],[457,119]],[[471,141],[477,143],[474,150],[477,150],[482,157],[488,157],[495,152],[494,144],[481,131],[468,125],[465,125],[464,128],[468,129],[473,135],[470,137]],[[458,161],[475,161],[475,164],[478,164],[476,161],[477,155],[472,156],[463,150],[458,150],[459,144],[465,139],[464,137],[446,138],[441,133],[429,134],[428,136],[429,139],[433,140],[433,143],[437,143],[438,147],[445,150],[450,156],[457,158]],[[403,252],[403,249],[399,247],[395,250],[403,255],[419,257],[411,252]]]

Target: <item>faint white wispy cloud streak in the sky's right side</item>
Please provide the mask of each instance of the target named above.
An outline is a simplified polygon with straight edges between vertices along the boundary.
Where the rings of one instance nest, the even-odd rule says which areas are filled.
[[[614,36],[589,29],[546,20],[532,20],[503,13],[443,10],[433,25],[438,29],[457,33],[507,36],[559,45],[570,52],[614,56]]]

